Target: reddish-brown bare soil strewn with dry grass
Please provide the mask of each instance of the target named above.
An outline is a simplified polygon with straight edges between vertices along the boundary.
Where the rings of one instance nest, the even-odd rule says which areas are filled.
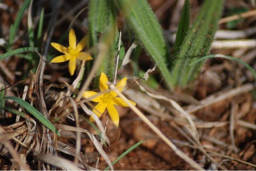
[[[0,37],[7,38],[9,27],[15,20],[15,14],[19,9],[19,4],[22,0],[3,0],[2,3],[8,6],[8,9],[0,9]],[[48,12],[50,11],[47,5],[47,0],[42,0],[42,4],[35,3],[35,6],[40,4],[45,7],[45,15],[47,20]],[[59,17],[61,19],[65,14],[72,10],[74,6],[79,4],[79,0],[64,1],[60,7]],[[175,32],[179,22],[180,10],[182,4],[176,0],[148,0],[151,7],[154,9],[161,26],[169,34]],[[180,5],[181,4],[181,5]],[[191,0],[191,22],[195,19],[196,14],[200,9],[201,0]],[[87,4],[85,5],[87,6]],[[55,27],[53,39],[58,40],[67,31],[74,15],[82,8],[77,8],[73,14],[66,16],[62,22]],[[232,8],[246,8],[248,11],[256,9],[255,4],[245,0],[227,0],[224,7],[223,17],[230,15]],[[82,24],[87,17],[88,10],[85,9],[77,18],[74,28],[78,31],[81,37],[87,33],[86,25]],[[27,13],[25,13],[26,16]],[[256,14],[249,17],[244,17],[232,28],[233,30],[244,31],[247,28],[253,28],[256,25]],[[118,18],[118,23],[123,23],[122,17]],[[221,29],[228,29],[227,22],[219,25]],[[81,25],[81,27],[79,27]],[[26,44],[27,37],[22,36],[26,33],[27,18],[23,17],[19,27],[19,38],[13,49],[23,47]],[[46,26],[44,27],[44,30]],[[231,29],[231,28],[230,28]],[[168,34],[167,33],[167,34]],[[229,34],[229,33],[227,33]],[[254,34],[248,35],[243,39],[255,40],[256,31]],[[126,46],[131,46],[130,37],[128,34],[123,34],[123,42]],[[224,38],[223,38],[224,39]],[[216,41],[221,38],[216,38]],[[228,40],[230,43],[232,40]],[[169,42],[172,46],[172,42]],[[50,49],[52,50],[52,49]],[[6,49],[0,47],[0,54],[6,52]],[[213,47],[212,54],[227,54],[237,57],[248,63],[253,68],[256,68],[256,50],[254,47],[246,48],[218,48]],[[18,96],[23,94],[24,85],[30,84],[29,70],[35,64],[28,63],[27,60],[12,56],[8,60],[0,61],[0,84],[5,87],[13,85],[6,89],[6,96]],[[63,65],[65,66],[65,65]],[[152,68],[154,64],[148,58],[148,55],[143,51],[140,55],[139,66],[145,71]],[[125,68],[119,74],[131,75],[133,66]],[[50,83],[62,84],[64,81],[71,84],[75,77],[70,77],[65,67],[53,69],[47,65],[45,69],[44,88]],[[61,75],[60,75],[61,74]],[[60,75],[60,76],[59,76]],[[216,58],[207,60],[204,67],[196,80],[187,88],[176,88],[175,94],[171,94],[161,85],[161,79],[157,72],[152,74],[160,83],[157,89],[150,88],[142,81],[138,80],[140,85],[145,87],[147,92],[157,94],[168,99],[175,100],[184,111],[190,113],[195,127],[198,131],[197,135],[190,127],[186,118],[179,114],[175,107],[168,100],[163,100],[151,97],[142,91],[140,87],[134,83],[135,80],[130,77],[128,82],[128,90],[125,95],[129,99],[137,103],[140,111],[148,117],[151,122],[166,135],[181,151],[198,162],[203,168],[209,170],[255,170],[256,169],[256,102],[254,84],[255,80],[250,71],[239,63],[232,60],[224,60]],[[22,81],[17,85],[15,83]],[[48,82],[49,81],[49,82]],[[46,96],[52,92],[60,92],[60,88],[50,88]],[[47,108],[51,108],[54,102],[52,99],[46,99]],[[15,106],[8,103],[9,106]],[[17,108],[17,105],[15,106]],[[116,128],[108,114],[105,114],[101,121],[105,126],[106,133],[110,140],[110,146],[103,149],[108,154],[111,161],[114,161],[124,151],[140,140],[145,140],[142,145],[128,153],[119,162],[114,165],[115,170],[193,170],[191,165],[178,157],[175,152],[166,145],[150,128],[138,117],[130,108],[117,108],[120,115],[119,128]],[[81,111],[81,109],[79,109]],[[81,116],[89,118],[86,114]],[[0,116],[1,128],[12,130],[20,128],[25,124],[24,120],[16,123],[16,115],[5,111]],[[65,124],[76,126],[75,121],[68,117],[61,118],[55,125]],[[20,124],[20,125],[19,125]],[[15,128],[11,128],[15,125]],[[92,134],[97,132],[89,123],[80,120],[80,127],[90,131]],[[61,137],[53,137],[55,145],[64,143],[65,146],[76,148],[76,132],[60,131]],[[21,136],[22,137],[22,136]],[[22,141],[23,138],[20,137]],[[105,159],[96,150],[93,142],[83,134],[81,140],[81,153],[84,154],[86,162],[92,167],[105,169],[108,165]],[[1,140],[1,139],[0,139]],[[20,146],[14,140],[10,141],[14,150],[19,154],[26,154],[27,164],[31,169],[38,169],[38,159],[35,158],[32,152],[27,150],[20,152]],[[0,155],[0,170],[17,169],[17,165],[13,165],[12,157],[4,152],[4,146],[1,146]],[[64,157],[67,160],[73,161],[74,155],[57,150],[58,156]]]

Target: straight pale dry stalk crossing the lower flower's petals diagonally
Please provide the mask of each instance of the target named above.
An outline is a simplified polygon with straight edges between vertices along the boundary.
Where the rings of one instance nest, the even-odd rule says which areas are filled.
[[[179,157],[188,162],[192,167],[196,168],[197,170],[204,170],[204,168],[202,168],[198,163],[196,163],[194,160],[184,154],[180,149],[178,149],[153,123],[150,122],[150,120],[148,120],[147,117],[145,117],[145,115],[138,108],[133,106],[131,102],[121,92],[119,92],[113,84],[110,83],[109,86],[152,129],[152,131],[154,131],[164,142],[166,142],[167,145],[172,148],[172,150]]]

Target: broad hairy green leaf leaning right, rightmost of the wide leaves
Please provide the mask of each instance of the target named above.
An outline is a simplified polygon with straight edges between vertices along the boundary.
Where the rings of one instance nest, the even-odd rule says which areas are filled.
[[[198,58],[209,53],[221,17],[224,0],[205,0],[201,10],[189,29],[179,53],[175,54],[172,65],[172,86],[186,86],[192,81],[201,65],[189,66]]]

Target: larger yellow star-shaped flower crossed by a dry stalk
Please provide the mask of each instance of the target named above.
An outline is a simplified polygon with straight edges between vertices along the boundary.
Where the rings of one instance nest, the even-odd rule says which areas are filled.
[[[122,80],[119,81],[119,83],[116,84],[116,88],[120,92],[125,87],[126,81],[127,81],[127,77],[124,77]],[[118,127],[119,114],[114,105],[120,105],[120,106],[124,106],[124,107],[127,107],[128,105],[120,97],[116,97],[117,94],[115,91],[112,90],[110,92],[106,92],[108,90],[108,85],[106,84],[107,82],[108,82],[108,78],[107,78],[106,74],[104,74],[102,72],[100,75],[100,78],[99,78],[99,88],[100,88],[100,91],[103,91],[105,93],[102,93],[102,94],[96,96],[98,93],[96,93],[94,91],[84,91],[83,96],[84,96],[84,98],[90,98],[90,97],[96,96],[95,98],[93,98],[91,100],[93,102],[98,102],[98,104],[93,109],[93,112],[95,114],[97,114],[98,117],[100,117],[107,108],[108,113],[109,113],[111,119],[113,120],[113,123]],[[133,105],[136,105],[135,102],[133,102],[131,100],[130,100],[130,102]],[[90,121],[91,122],[94,121],[92,116],[90,117]]]

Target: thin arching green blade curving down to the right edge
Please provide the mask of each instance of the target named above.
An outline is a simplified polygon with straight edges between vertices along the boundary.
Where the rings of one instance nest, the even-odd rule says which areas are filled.
[[[244,65],[247,69],[249,69],[252,73],[253,73],[253,76],[256,80],[256,72],[254,71],[254,69],[249,66],[247,63],[245,63],[244,61],[242,60],[239,60],[238,58],[235,58],[235,57],[232,57],[232,56],[228,56],[228,55],[223,55],[223,54],[210,54],[210,55],[207,55],[205,57],[202,57],[196,61],[194,61],[193,63],[191,63],[190,65],[195,65],[196,63],[200,62],[200,61],[204,61],[208,58],[214,58],[214,57],[221,57],[221,58],[225,58],[225,59],[230,59],[230,60],[234,60],[236,62],[239,62],[241,63],[242,65]]]

